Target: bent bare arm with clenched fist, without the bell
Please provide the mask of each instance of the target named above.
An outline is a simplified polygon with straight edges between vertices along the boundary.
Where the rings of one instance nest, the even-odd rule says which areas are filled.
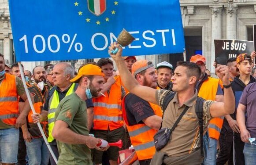
[[[215,72],[222,80],[224,86],[229,86],[229,71],[225,65],[218,65]],[[210,107],[211,117],[221,117],[224,115],[232,114],[235,110],[235,97],[231,86],[224,88],[224,102],[215,102]]]

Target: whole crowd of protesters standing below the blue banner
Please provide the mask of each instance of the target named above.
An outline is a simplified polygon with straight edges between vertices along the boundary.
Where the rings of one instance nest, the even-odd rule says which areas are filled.
[[[66,62],[21,72],[0,54],[2,165],[56,165],[54,157],[58,165],[118,165],[129,147],[140,165],[255,165],[255,51],[216,64],[217,78],[199,54],[175,70],[166,61],[122,57],[117,43],[109,54],[113,61],[78,72]],[[122,149],[100,147],[102,140],[122,140]]]

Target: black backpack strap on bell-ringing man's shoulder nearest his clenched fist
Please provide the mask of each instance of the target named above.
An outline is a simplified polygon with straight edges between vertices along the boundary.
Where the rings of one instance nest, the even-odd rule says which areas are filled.
[[[204,135],[204,126],[203,126],[203,105],[204,105],[204,99],[202,97],[197,97],[197,103],[196,103],[196,114],[199,122],[199,129],[200,129],[200,149],[201,149],[201,157],[204,157],[204,143],[203,143],[203,135]]]

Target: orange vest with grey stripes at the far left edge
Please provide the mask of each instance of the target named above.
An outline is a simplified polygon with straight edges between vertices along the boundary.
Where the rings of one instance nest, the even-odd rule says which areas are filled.
[[[14,126],[19,116],[16,77],[5,73],[0,84],[0,119],[7,125]]]

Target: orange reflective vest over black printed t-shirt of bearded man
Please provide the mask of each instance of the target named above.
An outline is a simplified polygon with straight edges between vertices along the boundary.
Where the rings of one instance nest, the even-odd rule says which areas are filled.
[[[139,160],[151,159],[156,152],[154,135],[156,134],[157,130],[146,126],[144,123],[129,126],[129,122],[126,116],[125,98],[126,97],[124,97],[122,100],[123,118],[130,135],[131,143]],[[150,102],[148,103],[153,109],[155,115],[160,117],[163,116],[163,112],[159,105],[152,104]]]

